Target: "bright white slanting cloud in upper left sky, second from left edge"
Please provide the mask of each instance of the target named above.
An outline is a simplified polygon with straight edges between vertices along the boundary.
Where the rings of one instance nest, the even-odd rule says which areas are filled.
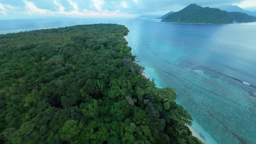
[[[45,10],[38,8],[34,5],[33,2],[29,2],[27,0],[23,0],[23,2],[26,4],[25,8],[28,10],[25,12],[26,14],[50,14],[50,10]]]

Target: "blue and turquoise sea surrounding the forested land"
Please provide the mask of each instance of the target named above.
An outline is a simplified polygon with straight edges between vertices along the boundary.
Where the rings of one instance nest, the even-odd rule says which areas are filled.
[[[147,19],[0,20],[0,34],[117,23],[158,87],[172,87],[206,143],[256,142],[256,23],[173,24]]]

